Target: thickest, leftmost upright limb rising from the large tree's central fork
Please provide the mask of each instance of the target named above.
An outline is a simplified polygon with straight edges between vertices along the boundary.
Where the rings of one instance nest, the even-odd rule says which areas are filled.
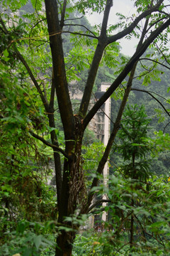
[[[66,4],[66,1],[64,1],[64,3]],[[67,149],[67,146],[72,146],[71,144],[73,144],[69,140],[74,140],[74,115],[72,111],[72,102],[69,97],[66,70],[64,65],[64,53],[61,36],[62,28],[59,21],[57,2],[55,0],[45,0],[45,9],[48,32],[50,36],[54,84],[64,128],[64,136],[67,141]]]

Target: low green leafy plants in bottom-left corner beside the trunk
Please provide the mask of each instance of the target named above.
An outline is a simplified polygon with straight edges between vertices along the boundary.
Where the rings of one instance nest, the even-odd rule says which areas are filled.
[[[48,252],[49,247],[51,250],[55,248],[54,231],[52,221],[42,224],[21,220],[16,224],[16,230],[6,231],[0,255],[40,256],[42,252]]]

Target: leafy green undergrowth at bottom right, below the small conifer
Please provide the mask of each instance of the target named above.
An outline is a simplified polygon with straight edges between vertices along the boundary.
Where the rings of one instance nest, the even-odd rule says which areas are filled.
[[[154,176],[148,184],[133,183],[118,173],[109,179],[108,188],[96,187],[106,193],[109,212],[103,231],[88,230],[77,235],[73,255],[169,255],[169,185],[164,177]],[[140,185],[140,186],[139,186]],[[130,206],[132,198],[135,206]],[[98,212],[98,210],[96,210]],[[130,252],[130,218],[135,217],[134,243]]]

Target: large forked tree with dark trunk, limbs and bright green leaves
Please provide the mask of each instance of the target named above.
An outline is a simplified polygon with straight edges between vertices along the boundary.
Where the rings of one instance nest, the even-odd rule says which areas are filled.
[[[77,215],[88,213],[94,198],[94,193],[91,191],[89,193],[87,191],[87,194],[82,193],[85,186],[81,157],[84,131],[98,109],[129,75],[111,137],[101,161],[98,162],[96,176],[91,182],[91,188],[94,188],[98,183],[97,174],[102,174],[103,166],[106,164],[111,146],[120,128],[120,120],[131,90],[137,61],[149,46],[154,46],[159,42],[161,43],[159,47],[166,55],[166,41],[170,25],[169,14],[166,11],[169,6],[166,6],[164,0],[134,1],[137,15],[128,18],[126,22],[125,16],[119,14],[120,23],[110,27],[108,26],[108,16],[113,6],[112,0],[72,1],[72,6],[68,6],[68,2],[67,0],[45,0],[45,16],[42,12],[42,1],[31,1],[35,13],[23,14],[23,19],[16,14],[11,17],[11,21],[8,21],[8,12],[5,11],[0,18],[2,84],[6,87],[4,74],[6,70],[9,70],[11,78],[15,78],[16,84],[19,84],[23,90],[19,100],[16,99],[16,102],[13,102],[13,107],[16,107],[17,110],[13,113],[13,119],[19,118],[23,114],[26,119],[18,120],[21,132],[26,137],[33,137],[52,149],[57,188],[57,221],[67,228],[73,228],[71,231],[62,230],[58,235],[57,256],[72,255],[75,230],[79,228],[79,224],[73,225],[71,222],[65,221],[65,218],[72,216],[75,212]],[[26,3],[26,0],[21,2],[1,1],[1,6],[4,9],[8,6],[12,11],[16,11]],[[84,15],[87,9],[90,9],[91,12],[103,12],[101,27],[99,26],[96,31],[90,31],[89,28],[83,26],[84,31],[84,29],[80,29],[82,25],[80,27],[77,24],[77,31],[69,31],[69,27],[75,25],[72,24],[72,20],[69,20],[69,13],[76,8],[80,15]],[[141,21],[145,21],[145,26],[140,24]],[[118,31],[116,31],[117,29]],[[72,34],[73,47],[76,49],[72,51],[72,58],[79,61],[78,56],[82,54],[83,63],[89,62],[86,64],[89,73],[77,113],[73,112],[69,96],[69,82],[71,82],[69,74],[72,73],[70,79],[76,78],[77,70],[73,65],[67,70],[68,59],[67,56],[64,59],[64,42],[62,40],[64,33]],[[115,53],[116,55],[119,53],[118,41],[125,37],[131,38],[132,35],[139,38],[134,55],[129,59],[122,58],[122,63],[116,68],[118,75],[111,83],[111,87],[89,110],[91,93],[99,65],[103,61],[102,58],[111,66],[112,55],[112,60],[114,60]],[[79,50],[80,46],[83,48],[81,51]],[[83,65],[82,60],[80,63]],[[74,63],[74,65],[77,67],[79,63]],[[10,76],[8,80],[10,80]],[[26,97],[25,93],[28,94],[29,106],[24,108],[28,112],[23,113],[21,99]],[[6,94],[3,97],[6,99]],[[55,126],[56,102],[64,131],[64,148],[63,143],[61,144],[57,137],[59,132]],[[34,106],[36,106],[35,112]],[[6,120],[8,122],[6,108],[2,112],[1,118],[4,124],[6,124]],[[14,123],[13,119],[10,120],[11,124]],[[16,129],[18,129],[17,126]],[[63,162],[62,157],[64,157]],[[83,194],[84,197],[82,197]]]

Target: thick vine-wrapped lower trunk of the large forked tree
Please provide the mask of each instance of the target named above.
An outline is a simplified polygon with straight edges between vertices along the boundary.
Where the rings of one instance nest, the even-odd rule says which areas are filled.
[[[75,138],[76,144],[74,146],[74,151],[72,150],[71,159],[66,159],[64,163],[61,207],[59,209],[58,218],[58,223],[60,223],[61,226],[71,228],[72,230],[62,230],[61,233],[58,235],[55,256],[72,255],[72,245],[77,230],[79,228],[79,224],[77,223],[73,225],[71,222],[65,221],[64,218],[71,217],[72,215],[75,214],[78,201],[85,201],[84,196],[82,196],[82,191],[84,191],[85,185],[84,176],[81,169],[81,144],[83,137],[83,129],[81,128],[79,117],[76,116],[74,118],[76,124],[75,130],[77,132],[77,137]]]

